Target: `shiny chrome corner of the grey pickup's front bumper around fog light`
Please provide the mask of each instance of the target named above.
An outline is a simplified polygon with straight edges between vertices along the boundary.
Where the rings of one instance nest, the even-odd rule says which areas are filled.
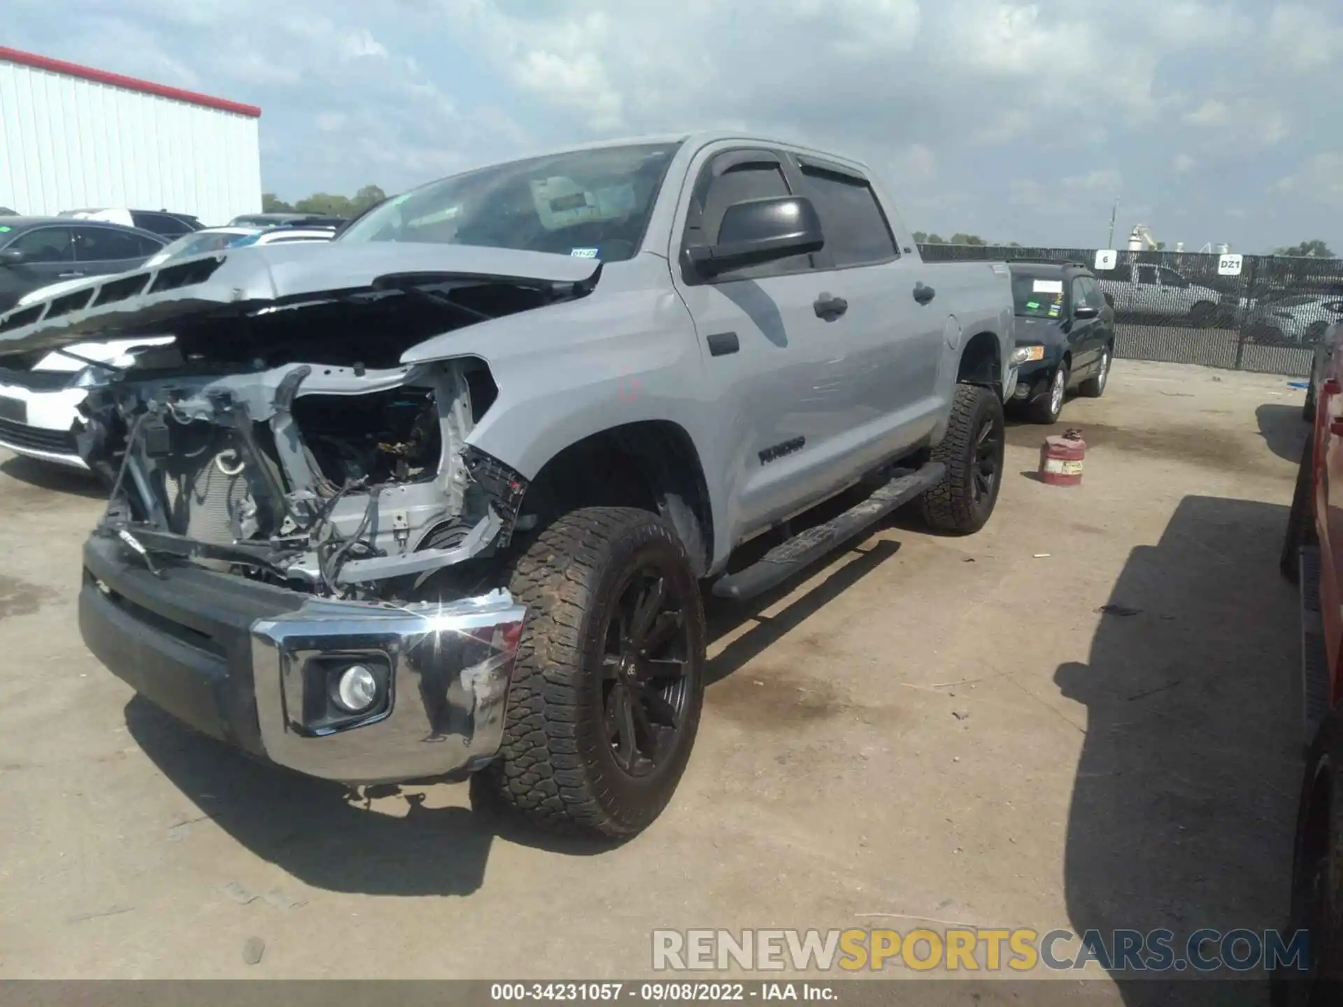
[[[258,620],[252,677],[266,755],[352,784],[479,768],[502,741],[524,615],[497,591],[402,608],[313,599]],[[314,689],[353,663],[385,670],[385,709],[341,729],[309,726]]]

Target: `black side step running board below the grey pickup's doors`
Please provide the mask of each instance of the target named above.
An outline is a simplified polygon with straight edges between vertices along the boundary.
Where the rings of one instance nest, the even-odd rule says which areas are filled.
[[[907,470],[862,504],[823,525],[799,532],[774,546],[744,571],[720,577],[713,584],[713,593],[717,597],[731,597],[733,602],[763,595],[940,482],[945,471],[947,466],[941,462],[929,462],[917,471]]]

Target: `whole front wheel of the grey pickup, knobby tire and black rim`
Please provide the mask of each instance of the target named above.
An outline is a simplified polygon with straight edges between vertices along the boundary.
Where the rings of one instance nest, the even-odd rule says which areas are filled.
[[[543,828],[635,835],[676,792],[704,705],[704,603],[680,537],[646,510],[575,510],[509,589],[526,620],[481,783]]]

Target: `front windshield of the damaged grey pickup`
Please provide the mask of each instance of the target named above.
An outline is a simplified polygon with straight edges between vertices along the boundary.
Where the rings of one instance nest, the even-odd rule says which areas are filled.
[[[388,200],[337,242],[422,242],[619,262],[643,240],[680,144],[573,150],[481,168]]]

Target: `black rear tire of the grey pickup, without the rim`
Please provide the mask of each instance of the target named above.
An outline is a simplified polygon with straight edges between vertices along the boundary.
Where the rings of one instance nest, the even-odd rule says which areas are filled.
[[[975,458],[984,422],[992,423],[997,446],[997,475],[990,493],[976,502],[974,493]],[[947,474],[915,501],[919,518],[941,534],[974,534],[994,512],[1003,475],[1003,405],[991,388],[956,385],[947,436],[931,452],[931,461],[947,466]]]

